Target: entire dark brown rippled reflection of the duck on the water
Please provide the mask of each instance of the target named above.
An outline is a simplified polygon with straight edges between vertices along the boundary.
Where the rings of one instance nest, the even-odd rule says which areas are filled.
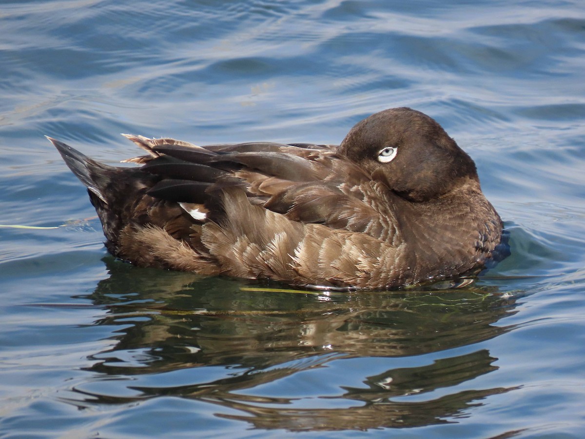
[[[91,299],[108,310],[96,324],[119,328],[115,346],[92,356],[91,371],[132,376],[126,384],[136,393],[113,397],[78,386],[80,405],[174,395],[236,409],[243,414],[225,410],[218,416],[258,428],[364,430],[452,421],[484,397],[509,390],[457,389],[496,369],[495,359],[480,349],[376,376],[360,377],[358,368],[347,371],[352,379],[346,382],[338,373],[331,386],[339,394],[316,395],[326,408],[304,407],[302,397],[288,397],[285,389],[278,397],[258,391],[349,358],[367,363],[366,357],[428,354],[495,337],[507,329],[494,323],[515,306],[497,291],[488,294],[472,284],[441,292],[260,292],[235,280],[106,262],[111,276]],[[202,366],[220,366],[223,373],[210,380],[198,373]],[[188,378],[167,379],[185,369]],[[364,387],[346,385],[355,385],[356,374]],[[326,379],[326,372],[320,376]]]

